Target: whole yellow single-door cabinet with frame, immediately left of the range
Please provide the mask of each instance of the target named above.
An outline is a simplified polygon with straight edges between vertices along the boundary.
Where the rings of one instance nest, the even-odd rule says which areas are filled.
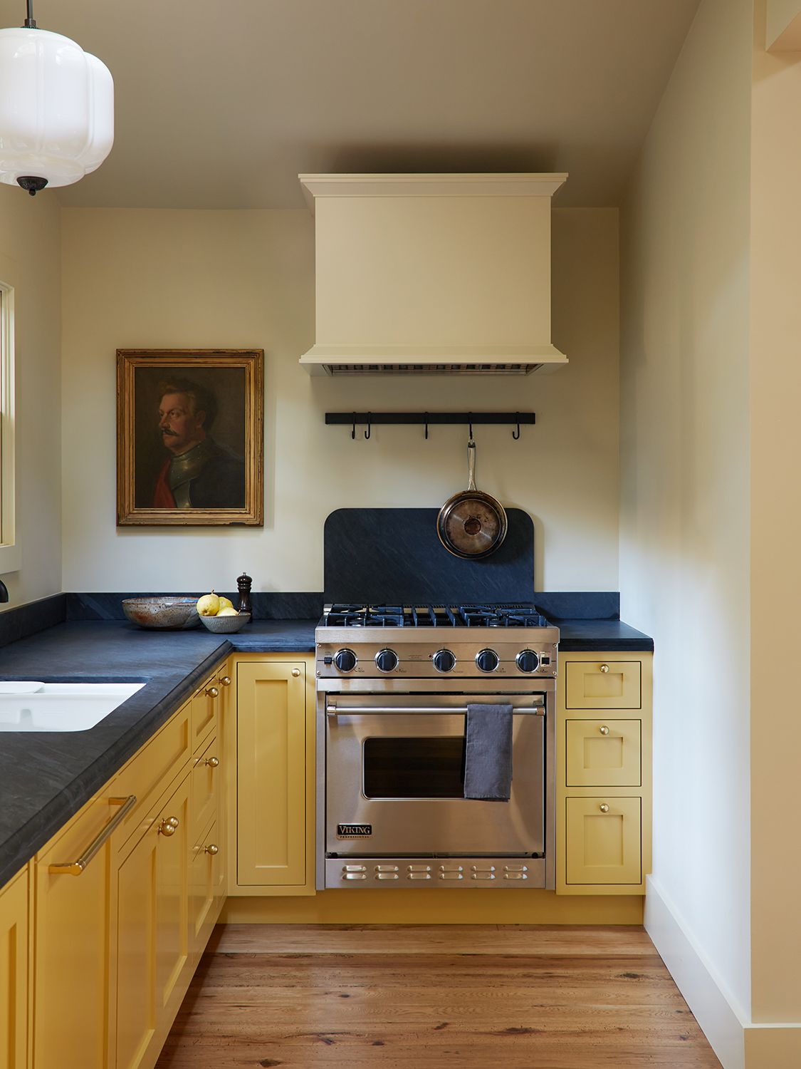
[[[233,660],[227,893],[313,895],[314,657]]]

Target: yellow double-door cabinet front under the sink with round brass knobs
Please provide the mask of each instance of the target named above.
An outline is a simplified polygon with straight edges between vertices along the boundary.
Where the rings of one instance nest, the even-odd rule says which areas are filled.
[[[189,773],[116,873],[116,1069],[155,1064],[191,979]]]

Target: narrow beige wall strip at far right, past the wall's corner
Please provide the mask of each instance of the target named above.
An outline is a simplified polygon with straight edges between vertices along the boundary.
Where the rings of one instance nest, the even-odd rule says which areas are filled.
[[[765,52],[764,27],[760,3],[751,171],[753,1017],[801,1022],[801,53]]]

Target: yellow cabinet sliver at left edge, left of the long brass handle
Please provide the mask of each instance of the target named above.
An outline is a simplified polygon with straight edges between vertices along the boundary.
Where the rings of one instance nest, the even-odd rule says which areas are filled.
[[[0,890],[0,1069],[28,1058],[28,869]]]

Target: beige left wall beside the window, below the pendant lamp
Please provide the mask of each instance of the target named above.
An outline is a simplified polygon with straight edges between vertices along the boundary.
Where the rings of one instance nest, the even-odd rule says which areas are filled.
[[[61,252],[52,193],[0,185],[0,262],[15,286],[16,537],[3,609],[61,590]]]

